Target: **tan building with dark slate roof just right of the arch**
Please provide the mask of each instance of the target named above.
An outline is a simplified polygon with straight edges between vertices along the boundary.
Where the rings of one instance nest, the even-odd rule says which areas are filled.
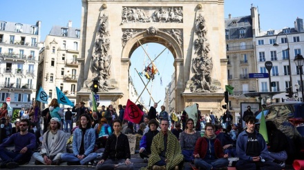
[[[256,78],[249,78],[249,73],[256,73],[255,37],[258,36],[259,14],[256,7],[251,7],[251,14],[244,17],[225,19],[225,39],[227,79],[228,84],[234,87],[234,94],[229,95],[229,109],[234,118],[240,116],[240,103],[256,102],[254,98],[245,98],[243,94],[258,91]]]

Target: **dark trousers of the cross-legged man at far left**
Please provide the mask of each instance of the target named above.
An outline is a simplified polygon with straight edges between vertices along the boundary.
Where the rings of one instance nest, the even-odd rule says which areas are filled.
[[[7,149],[3,149],[0,151],[0,158],[3,162],[17,162],[19,164],[25,164],[30,162],[30,158],[32,157],[32,151],[28,149],[26,153],[18,153],[8,151]]]

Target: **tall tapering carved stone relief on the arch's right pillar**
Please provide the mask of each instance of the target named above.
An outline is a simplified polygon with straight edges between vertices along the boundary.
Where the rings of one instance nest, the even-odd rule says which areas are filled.
[[[194,54],[191,69],[194,76],[191,78],[191,92],[216,92],[219,87],[213,84],[211,70],[213,68],[212,57],[209,56],[209,43],[206,37],[207,28],[205,19],[199,14],[196,19],[195,40],[193,42]]]

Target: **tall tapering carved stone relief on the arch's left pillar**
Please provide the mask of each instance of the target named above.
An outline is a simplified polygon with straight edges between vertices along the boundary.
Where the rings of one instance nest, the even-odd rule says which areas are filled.
[[[93,80],[86,84],[93,85],[93,81],[98,81],[99,92],[107,92],[111,89],[111,85],[108,84],[108,78],[111,75],[111,61],[112,56],[108,54],[111,42],[108,32],[108,16],[102,14],[99,17],[98,32],[95,37],[95,48],[92,54],[92,66]],[[89,86],[89,85],[88,85]]]

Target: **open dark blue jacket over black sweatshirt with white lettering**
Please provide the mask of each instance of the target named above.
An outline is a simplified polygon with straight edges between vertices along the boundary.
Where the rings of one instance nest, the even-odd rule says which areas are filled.
[[[258,140],[258,145],[260,147],[260,157],[265,160],[269,160],[267,144],[263,136],[258,133],[258,131],[254,131],[254,133],[256,133],[256,139]],[[238,135],[238,140],[236,141],[236,153],[241,160],[252,161],[252,157],[246,155],[247,141],[248,135],[246,131],[242,131],[242,133]]]

